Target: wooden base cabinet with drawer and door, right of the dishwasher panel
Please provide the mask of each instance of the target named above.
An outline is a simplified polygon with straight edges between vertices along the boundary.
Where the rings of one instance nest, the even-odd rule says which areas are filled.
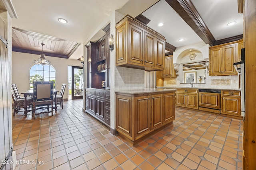
[[[236,90],[221,91],[221,113],[241,116],[241,92]]]

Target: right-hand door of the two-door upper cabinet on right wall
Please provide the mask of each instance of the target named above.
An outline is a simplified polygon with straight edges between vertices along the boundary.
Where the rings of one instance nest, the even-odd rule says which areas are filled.
[[[236,44],[222,48],[222,74],[236,75],[233,63],[236,62]]]

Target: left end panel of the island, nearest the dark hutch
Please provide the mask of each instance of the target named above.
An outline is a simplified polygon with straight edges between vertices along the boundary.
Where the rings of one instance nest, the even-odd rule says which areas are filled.
[[[132,137],[132,97],[116,95],[116,130]]]

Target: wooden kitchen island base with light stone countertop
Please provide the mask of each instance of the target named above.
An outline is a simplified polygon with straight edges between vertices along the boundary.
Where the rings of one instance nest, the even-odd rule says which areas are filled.
[[[116,91],[116,131],[132,146],[172,124],[175,89]]]

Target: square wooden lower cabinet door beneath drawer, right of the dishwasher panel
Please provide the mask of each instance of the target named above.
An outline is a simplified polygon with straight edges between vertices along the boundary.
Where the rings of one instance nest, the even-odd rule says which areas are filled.
[[[221,113],[227,115],[241,115],[241,99],[240,97],[222,96]]]

